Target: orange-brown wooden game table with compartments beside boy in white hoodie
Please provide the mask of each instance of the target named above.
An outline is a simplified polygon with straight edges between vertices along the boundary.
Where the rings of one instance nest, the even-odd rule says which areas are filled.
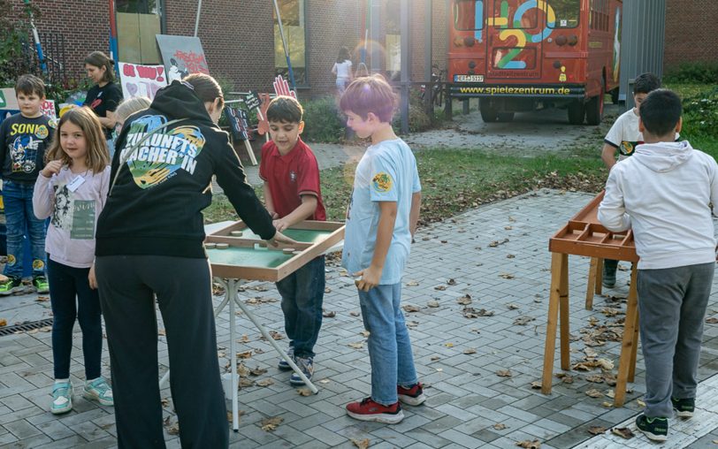
[[[551,392],[554,377],[554,355],[556,351],[556,331],[561,325],[561,369],[570,369],[569,349],[569,255],[591,257],[586,289],[585,308],[591,309],[593,293],[600,293],[601,270],[604,259],[613,259],[633,263],[630,274],[630,289],[626,305],[626,318],[623,327],[621,357],[616,376],[616,407],[623,406],[626,396],[626,384],[633,382],[636,370],[638,348],[638,293],[636,290],[636,245],[633,232],[610,232],[603,227],[598,218],[600,202],[605,192],[601,192],[581,209],[569,223],[548,242],[551,255],[551,293],[548,302],[548,320],[546,323],[546,346],[544,348],[544,369],[541,392]]]

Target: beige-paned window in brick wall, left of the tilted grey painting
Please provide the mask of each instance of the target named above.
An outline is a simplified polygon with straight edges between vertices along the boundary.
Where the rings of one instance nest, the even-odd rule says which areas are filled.
[[[155,34],[162,33],[160,0],[117,0],[118,59],[126,63],[162,64]]]

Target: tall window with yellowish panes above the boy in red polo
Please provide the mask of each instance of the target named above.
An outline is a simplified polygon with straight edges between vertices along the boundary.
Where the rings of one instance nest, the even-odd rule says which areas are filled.
[[[286,47],[289,49],[289,60],[292,62],[294,81],[297,86],[307,85],[307,28],[304,16],[304,0],[278,0],[279,13]],[[272,10],[274,8],[272,7]],[[289,80],[289,68],[286,65],[282,36],[279,33],[277,11],[274,11],[274,72]]]

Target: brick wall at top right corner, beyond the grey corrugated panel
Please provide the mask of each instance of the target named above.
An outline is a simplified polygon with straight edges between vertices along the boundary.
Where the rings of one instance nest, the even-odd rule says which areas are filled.
[[[663,69],[684,62],[718,59],[718,4],[715,0],[668,0]]]

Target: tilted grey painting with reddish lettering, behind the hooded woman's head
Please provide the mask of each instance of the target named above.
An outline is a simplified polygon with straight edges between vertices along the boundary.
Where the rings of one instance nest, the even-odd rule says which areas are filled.
[[[190,73],[210,73],[202,42],[198,37],[166,34],[157,34],[156,37],[168,83],[181,80]]]

